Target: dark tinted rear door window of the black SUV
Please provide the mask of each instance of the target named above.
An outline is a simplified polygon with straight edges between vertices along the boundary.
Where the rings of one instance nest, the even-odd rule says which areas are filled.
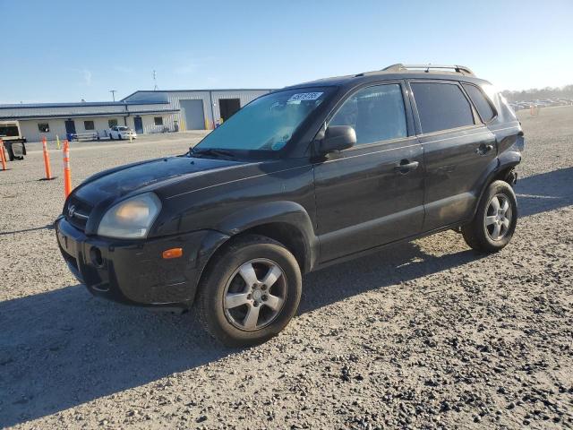
[[[423,133],[475,124],[472,107],[458,85],[437,82],[412,82],[410,85]]]

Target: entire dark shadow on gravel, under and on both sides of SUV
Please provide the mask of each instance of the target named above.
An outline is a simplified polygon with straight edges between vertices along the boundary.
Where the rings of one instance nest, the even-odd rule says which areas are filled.
[[[573,168],[519,181],[522,216],[573,204],[571,184]],[[480,258],[470,250],[437,257],[415,243],[389,249],[306,275],[299,313]],[[0,427],[156,384],[235,352],[211,340],[192,314],[100,301],[79,285],[2,302]]]

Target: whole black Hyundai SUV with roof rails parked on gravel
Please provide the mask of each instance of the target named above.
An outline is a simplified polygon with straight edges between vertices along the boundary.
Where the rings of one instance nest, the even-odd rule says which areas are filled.
[[[251,345],[296,312],[301,274],[448,228],[495,252],[517,222],[520,123],[463,66],[405,66],[262,96],[184,155],[78,186],[57,241],[94,295],[198,303]]]

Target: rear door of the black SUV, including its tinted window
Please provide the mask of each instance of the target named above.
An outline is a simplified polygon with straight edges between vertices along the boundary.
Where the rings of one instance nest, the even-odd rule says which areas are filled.
[[[412,80],[409,86],[426,168],[423,230],[430,231],[472,217],[497,149],[458,82]]]

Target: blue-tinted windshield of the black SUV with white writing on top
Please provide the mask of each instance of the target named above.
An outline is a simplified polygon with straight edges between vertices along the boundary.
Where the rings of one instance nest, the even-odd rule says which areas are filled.
[[[304,88],[262,96],[208,134],[193,152],[281,150],[330,91],[330,88]]]

